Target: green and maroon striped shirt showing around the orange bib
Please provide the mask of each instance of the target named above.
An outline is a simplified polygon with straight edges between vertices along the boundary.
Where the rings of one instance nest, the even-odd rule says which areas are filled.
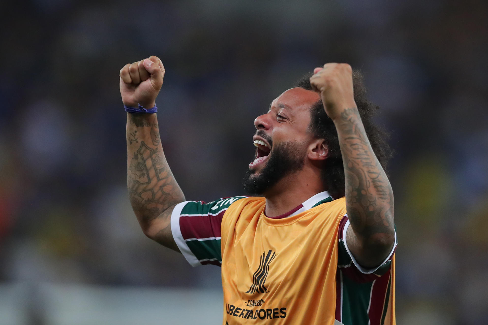
[[[171,215],[173,237],[192,266],[222,264],[222,218],[231,204],[245,197],[221,198],[210,203],[186,201],[175,207]],[[321,192],[276,218],[289,217],[332,200],[326,191]],[[344,325],[383,325],[393,280],[391,261],[397,245],[396,233],[395,245],[385,261],[377,268],[365,269],[347,247],[348,226],[345,215],[338,229],[336,320]]]

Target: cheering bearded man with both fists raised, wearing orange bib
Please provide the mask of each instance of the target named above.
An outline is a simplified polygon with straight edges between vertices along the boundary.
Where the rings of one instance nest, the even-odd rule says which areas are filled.
[[[264,197],[208,204],[185,201],[164,158],[163,76],[154,56],[120,72],[129,196],[146,236],[222,266],[223,324],[395,324],[389,149],[360,76],[327,63],[273,100],[244,180]]]

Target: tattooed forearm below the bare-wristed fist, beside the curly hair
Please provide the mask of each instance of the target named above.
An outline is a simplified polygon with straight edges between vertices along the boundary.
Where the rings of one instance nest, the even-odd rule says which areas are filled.
[[[357,108],[346,109],[338,128],[346,177],[346,210],[354,233],[362,238],[393,233],[393,191],[386,173],[375,156]],[[338,129],[339,130],[339,129]],[[348,245],[356,245],[348,229]]]

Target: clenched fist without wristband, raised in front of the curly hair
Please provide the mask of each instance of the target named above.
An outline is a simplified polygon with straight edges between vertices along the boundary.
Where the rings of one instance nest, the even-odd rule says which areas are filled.
[[[349,64],[327,63],[323,68],[315,68],[310,84],[322,96],[325,113],[332,120],[338,118],[346,108],[356,107]]]

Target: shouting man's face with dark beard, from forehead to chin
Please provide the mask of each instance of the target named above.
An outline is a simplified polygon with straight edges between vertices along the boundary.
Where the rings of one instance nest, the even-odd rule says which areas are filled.
[[[244,189],[263,194],[283,177],[302,169],[308,145],[310,107],[320,96],[303,88],[291,88],[271,103],[268,113],[254,120],[256,155],[244,178]]]

